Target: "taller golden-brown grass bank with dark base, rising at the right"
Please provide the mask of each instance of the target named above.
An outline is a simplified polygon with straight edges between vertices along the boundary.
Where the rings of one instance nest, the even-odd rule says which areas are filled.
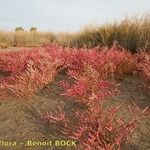
[[[85,28],[75,33],[67,34],[59,44],[71,47],[96,47],[112,45],[114,41],[132,52],[140,48],[150,50],[150,15],[140,18],[125,18],[122,22],[105,24],[100,27]]]

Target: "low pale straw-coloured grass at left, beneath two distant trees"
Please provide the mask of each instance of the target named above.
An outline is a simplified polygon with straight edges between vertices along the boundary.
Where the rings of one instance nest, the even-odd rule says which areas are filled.
[[[34,47],[48,44],[55,40],[55,35],[50,32],[0,32],[0,47]]]

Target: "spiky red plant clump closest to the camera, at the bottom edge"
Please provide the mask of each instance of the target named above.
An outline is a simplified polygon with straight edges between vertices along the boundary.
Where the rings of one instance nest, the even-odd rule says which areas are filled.
[[[76,110],[69,116],[62,109],[47,111],[43,119],[55,125],[67,138],[78,141],[75,149],[80,150],[120,150],[122,144],[131,140],[132,132],[137,127],[141,115],[146,111],[133,107],[130,120],[117,117],[122,104],[109,108],[90,107],[86,111]],[[136,109],[135,109],[136,108]],[[130,108],[131,111],[131,108]],[[72,115],[71,115],[72,114]],[[126,141],[126,142],[127,142]]]

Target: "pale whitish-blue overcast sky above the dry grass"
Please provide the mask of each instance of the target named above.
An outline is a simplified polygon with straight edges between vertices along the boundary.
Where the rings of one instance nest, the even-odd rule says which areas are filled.
[[[0,30],[74,32],[150,11],[150,0],[0,0]]]

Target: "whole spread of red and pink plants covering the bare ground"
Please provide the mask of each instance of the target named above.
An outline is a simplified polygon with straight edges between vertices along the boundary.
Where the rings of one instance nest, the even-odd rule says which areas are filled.
[[[149,77],[147,54],[142,58],[137,66],[137,60],[115,44],[100,49],[48,45],[31,51],[0,53],[0,97],[14,95],[28,99],[65,68],[72,83],[61,82],[62,95],[73,98],[84,110],[76,109],[71,116],[62,109],[49,111],[44,114],[44,120],[76,139],[79,149],[121,149],[146,109],[130,108],[133,116],[126,120],[116,117],[123,104],[106,109],[104,102],[119,92],[115,79],[133,73],[137,67]]]

